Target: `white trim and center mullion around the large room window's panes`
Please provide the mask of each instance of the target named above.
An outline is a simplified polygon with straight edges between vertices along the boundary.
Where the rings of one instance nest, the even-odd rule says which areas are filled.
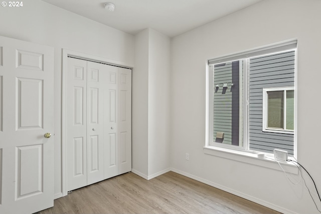
[[[260,50],[263,50],[262,52],[260,52]],[[239,154],[239,152],[242,153],[247,153],[253,155],[257,154],[257,153],[264,153],[264,152],[260,152],[260,151],[254,151],[254,150],[250,150],[249,146],[249,129],[248,129],[248,122],[249,122],[249,114],[248,114],[248,110],[249,110],[249,97],[248,97],[248,90],[247,90],[247,86],[248,85],[248,74],[247,72],[244,72],[244,74],[246,76],[244,76],[243,79],[243,128],[245,128],[245,130],[243,131],[243,146],[232,146],[232,145],[226,145],[226,144],[222,144],[222,143],[213,143],[213,86],[214,86],[214,79],[213,79],[213,69],[214,69],[214,65],[215,64],[220,64],[220,63],[225,63],[225,62],[232,62],[232,61],[236,61],[236,60],[243,60],[243,61],[247,61],[249,60],[249,58],[254,58],[254,57],[258,57],[258,56],[264,56],[264,55],[270,55],[270,54],[274,54],[274,53],[281,53],[281,52],[286,52],[286,51],[291,51],[294,50],[295,51],[295,66],[294,66],[294,121],[297,121],[297,40],[288,40],[285,42],[281,42],[281,43],[275,43],[272,45],[268,45],[268,46],[262,46],[256,49],[250,49],[247,51],[243,51],[243,52],[237,52],[235,54],[230,54],[230,55],[224,55],[224,56],[220,56],[217,58],[210,58],[206,60],[206,142],[205,142],[205,146],[204,146],[204,153],[208,154],[208,152],[206,151],[217,151],[217,152],[210,152],[212,155],[215,156],[220,156],[220,155],[216,155],[217,153],[220,153],[220,151],[223,149],[227,149],[229,150],[230,153],[234,153],[234,154]],[[248,54],[250,53],[250,54]],[[256,54],[254,54],[256,53]],[[250,56],[249,56],[250,55]],[[244,66],[248,65],[247,63],[244,63]],[[211,69],[213,68],[213,69]],[[297,130],[297,123],[294,123],[294,132],[296,133]],[[297,136],[294,134],[294,142],[293,142],[293,148],[294,148],[294,157],[297,157]],[[270,153],[265,153],[267,155],[270,155]],[[232,155],[233,156],[233,155]],[[234,158],[231,158],[234,159]]]

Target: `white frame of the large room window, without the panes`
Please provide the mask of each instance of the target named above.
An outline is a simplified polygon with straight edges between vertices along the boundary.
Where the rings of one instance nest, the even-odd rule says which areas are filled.
[[[205,143],[205,153],[212,154],[213,149],[217,151],[224,151],[227,149],[228,152],[235,153],[237,155],[244,153],[247,153],[249,156],[252,156],[251,154],[258,154],[258,153],[264,153],[261,151],[256,150],[250,150],[250,143],[249,143],[249,94],[248,94],[248,83],[249,83],[249,59],[264,55],[271,55],[271,54],[277,54],[287,51],[295,51],[295,68],[294,68],[294,81],[297,83],[297,54],[296,54],[296,40],[280,43],[272,46],[267,46],[263,48],[257,49],[258,51],[250,50],[246,52],[240,52],[232,55],[226,55],[223,57],[219,57],[216,59],[208,60],[208,67],[207,67],[207,104],[206,104],[206,143]],[[288,45],[289,44],[289,45]],[[293,47],[293,44],[295,44],[295,47]],[[280,49],[279,49],[280,48]],[[261,51],[262,50],[262,51]],[[253,54],[256,53],[256,54]],[[224,143],[216,143],[213,141],[213,101],[214,101],[214,65],[220,64],[220,63],[227,63],[227,62],[233,62],[233,61],[241,61],[243,60],[243,137],[242,137],[242,145],[235,146],[235,145],[229,145]],[[211,66],[213,66],[213,69]],[[247,67],[248,66],[248,67]],[[296,112],[296,105],[297,105],[297,92],[296,92],[296,84],[294,84],[294,87],[291,87],[294,90],[294,121],[296,121],[297,112]],[[241,114],[240,114],[241,115]],[[262,115],[263,116],[263,115]],[[294,132],[296,130],[296,124],[294,123]],[[287,132],[288,133],[288,132]],[[209,152],[210,151],[210,152]],[[214,152],[215,153],[215,152]],[[265,153],[267,157],[272,157],[273,154],[271,153]],[[297,151],[296,151],[296,135],[294,135],[294,157],[296,157]],[[218,155],[220,156],[220,155]]]

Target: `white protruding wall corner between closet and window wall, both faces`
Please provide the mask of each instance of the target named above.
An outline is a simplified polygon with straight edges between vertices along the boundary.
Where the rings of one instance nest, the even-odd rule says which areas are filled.
[[[152,29],[135,35],[132,171],[145,179],[170,170],[170,46]]]

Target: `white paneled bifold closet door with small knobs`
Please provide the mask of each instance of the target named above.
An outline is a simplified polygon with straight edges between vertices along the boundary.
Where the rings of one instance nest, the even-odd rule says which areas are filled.
[[[131,171],[131,69],[68,58],[67,190]]]

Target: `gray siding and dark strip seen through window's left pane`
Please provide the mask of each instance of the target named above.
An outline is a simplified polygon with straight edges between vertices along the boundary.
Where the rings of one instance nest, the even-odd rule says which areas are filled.
[[[227,83],[228,88],[223,88]],[[231,86],[231,83],[234,86]],[[216,85],[219,85],[216,88]],[[213,141],[239,144],[239,61],[214,66]],[[216,138],[224,132],[224,139]]]

